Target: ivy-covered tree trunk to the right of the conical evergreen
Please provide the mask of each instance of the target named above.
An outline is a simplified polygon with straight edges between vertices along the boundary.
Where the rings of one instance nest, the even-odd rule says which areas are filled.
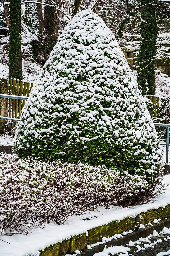
[[[158,35],[158,0],[140,0],[141,43],[138,55],[137,81],[142,95],[155,94],[155,58]]]

